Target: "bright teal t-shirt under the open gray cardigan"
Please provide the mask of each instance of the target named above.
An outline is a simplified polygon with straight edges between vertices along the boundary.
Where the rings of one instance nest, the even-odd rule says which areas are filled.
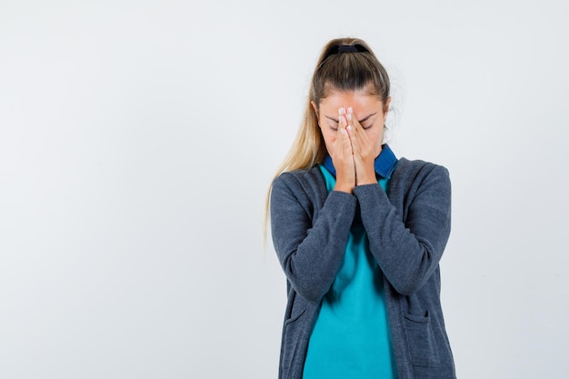
[[[328,192],[335,178],[320,166]],[[387,188],[388,179],[379,185]],[[356,214],[344,263],[324,295],[310,336],[303,379],[395,379],[391,332],[385,309],[384,279],[369,251],[364,225]]]

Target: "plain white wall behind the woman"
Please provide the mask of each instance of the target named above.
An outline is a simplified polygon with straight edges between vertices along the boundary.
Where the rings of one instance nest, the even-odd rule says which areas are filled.
[[[2,0],[0,377],[276,377],[265,191],[344,35],[450,170],[457,374],[567,377],[565,4]]]

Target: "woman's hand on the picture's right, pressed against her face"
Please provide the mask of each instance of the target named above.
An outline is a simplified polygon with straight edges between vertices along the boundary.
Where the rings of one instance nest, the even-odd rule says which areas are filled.
[[[346,118],[348,122],[346,130],[350,136],[354,154],[355,185],[377,184],[374,167],[374,145],[357,118],[353,116],[351,107],[348,108]]]

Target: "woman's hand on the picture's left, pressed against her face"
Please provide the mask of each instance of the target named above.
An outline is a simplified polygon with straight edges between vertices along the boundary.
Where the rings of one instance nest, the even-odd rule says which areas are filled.
[[[346,111],[344,108],[338,110],[338,131],[334,141],[334,151],[330,152],[332,162],[336,170],[336,184],[334,191],[354,193],[355,187],[355,165],[352,143],[347,130]]]

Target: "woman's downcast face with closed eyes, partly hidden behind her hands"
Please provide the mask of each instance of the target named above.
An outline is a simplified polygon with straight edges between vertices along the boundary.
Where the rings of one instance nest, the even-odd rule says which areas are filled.
[[[320,100],[320,107],[313,102],[314,112],[318,116],[318,125],[324,136],[326,150],[334,145],[338,134],[338,109],[354,109],[354,118],[359,121],[365,130],[365,134],[374,145],[374,155],[377,157],[381,152],[384,140],[385,115],[389,109],[391,97],[387,98],[385,106],[381,99],[375,95],[369,95],[366,89],[356,91],[331,91],[325,98]]]

